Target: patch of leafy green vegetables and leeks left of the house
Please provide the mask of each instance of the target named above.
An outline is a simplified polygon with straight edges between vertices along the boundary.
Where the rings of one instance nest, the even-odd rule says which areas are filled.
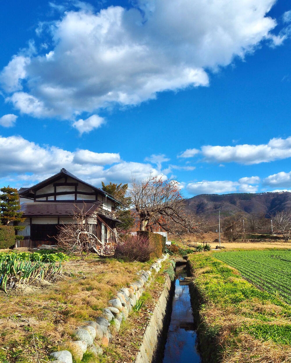
[[[0,289],[7,293],[21,285],[55,281],[68,256],[59,253],[0,253]]]

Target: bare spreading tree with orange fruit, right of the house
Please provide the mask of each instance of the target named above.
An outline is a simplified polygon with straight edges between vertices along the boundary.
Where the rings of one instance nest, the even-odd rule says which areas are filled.
[[[130,194],[141,231],[154,231],[161,227],[173,234],[183,230],[189,233],[199,232],[200,225],[185,213],[184,200],[177,181],[163,180],[152,174],[144,180],[133,178]]]

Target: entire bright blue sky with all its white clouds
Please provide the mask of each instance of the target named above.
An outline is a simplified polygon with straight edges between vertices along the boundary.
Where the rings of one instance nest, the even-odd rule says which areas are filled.
[[[287,1],[3,1],[0,184],[291,189]]]

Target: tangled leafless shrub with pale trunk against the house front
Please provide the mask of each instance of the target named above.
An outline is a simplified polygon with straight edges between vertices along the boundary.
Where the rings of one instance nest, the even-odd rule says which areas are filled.
[[[103,221],[101,221],[97,215],[90,215],[90,217],[96,220],[96,223],[97,225],[99,224],[100,228]],[[99,256],[110,256],[114,253],[114,246],[111,241],[105,244],[100,241],[95,234],[88,231],[85,208],[74,212],[72,218],[72,223],[64,224],[59,227],[59,233],[56,237],[59,242],[59,246],[64,248],[68,254],[82,256],[83,252],[88,254],[91,250]],[[107,228],[109,228],[109,226],[107,226]],[[114,231],[112,232],[115,233]]]

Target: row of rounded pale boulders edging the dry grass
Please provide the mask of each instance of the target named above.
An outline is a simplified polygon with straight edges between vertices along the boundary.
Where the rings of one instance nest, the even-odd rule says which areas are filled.
[[[121,322],[127,319],[128,314],[136,305],[136,302],[139,300],[146,287],[151,284],[154,275],[160,271],[162,262],[167,258],[168,254],[163,255],[162,258],[159,258],[151,265],[148,271],[139,271],[137,273],[138,277],[136,281],[128,287],[120,289],[116,296],[109,300],[108,306],[103,309],[101,317],[96,318],[95,321],[84,321],[83,325],[80,325],[73,332],[75,340],[65,344],[69,350],[56,351],[50,354],[52,358],[55,359],[53,362],[72,363],[72,355],[74,358],[82,360],[83,354],[86,351],[90,351],[97,356],[102,355],[103,349],[101,348],[101,345],[105,347],[108,346],[112,340],[111,331],[119,331]],[[170,279],[167,278],[167,281],[168,280],[170,281]],[[153,316],[154,315],[155,313]],[[151,361],[145,360],[144,362]]]

